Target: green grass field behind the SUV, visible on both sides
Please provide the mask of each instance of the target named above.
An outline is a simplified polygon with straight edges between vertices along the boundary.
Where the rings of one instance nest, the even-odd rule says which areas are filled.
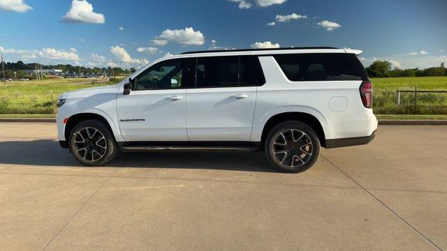
[[[80,82],[88,83],[76,84]],[[0,83],[0,114],[55,114],[60,93],[112,84],[93,82],[94,79],[46,79]],[[375,114],[447,115],[447,93],[420,93],[416,107],[413,93],[402,93],[401,105],[397,105],[396,94],[396,90],[414,90],[416,86],[418,90],[447,90],[447,77],[380,78],[372,79],[372,83]]]

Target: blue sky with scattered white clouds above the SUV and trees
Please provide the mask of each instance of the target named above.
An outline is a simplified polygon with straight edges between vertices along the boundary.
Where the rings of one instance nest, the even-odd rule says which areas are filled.
[[[335,46],[426,68],[447,61],[446,21],[445,0],[0,0],[0,52],[138,68],[189,50]]]

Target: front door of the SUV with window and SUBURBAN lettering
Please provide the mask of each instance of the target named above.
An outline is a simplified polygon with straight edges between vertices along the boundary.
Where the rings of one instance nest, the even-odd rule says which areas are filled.
[[[188,72],[188,59],[162,61],[136,77],[129,95],[118,94],[119,128],[126,141],[188,141]]]

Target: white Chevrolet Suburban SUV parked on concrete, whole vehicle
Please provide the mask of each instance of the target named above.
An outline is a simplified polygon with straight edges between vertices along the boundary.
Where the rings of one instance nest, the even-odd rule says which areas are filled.
[[[119,84],[64,93],[62,147],[99,166],[122,151],[265,151],[284,172],[320,146],[367,144],[372,84],[357,56],[332,47],[186,52]]]

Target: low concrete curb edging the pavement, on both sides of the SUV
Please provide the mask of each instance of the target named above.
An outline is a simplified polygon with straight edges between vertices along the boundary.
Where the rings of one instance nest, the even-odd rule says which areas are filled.
[[[55,123],[54,118],[0,118],[0,122],[35,122],[35,123]],[[444,126],[447,120],[430,120],[430,119],[379,119],[379,125],[430,125]]]

